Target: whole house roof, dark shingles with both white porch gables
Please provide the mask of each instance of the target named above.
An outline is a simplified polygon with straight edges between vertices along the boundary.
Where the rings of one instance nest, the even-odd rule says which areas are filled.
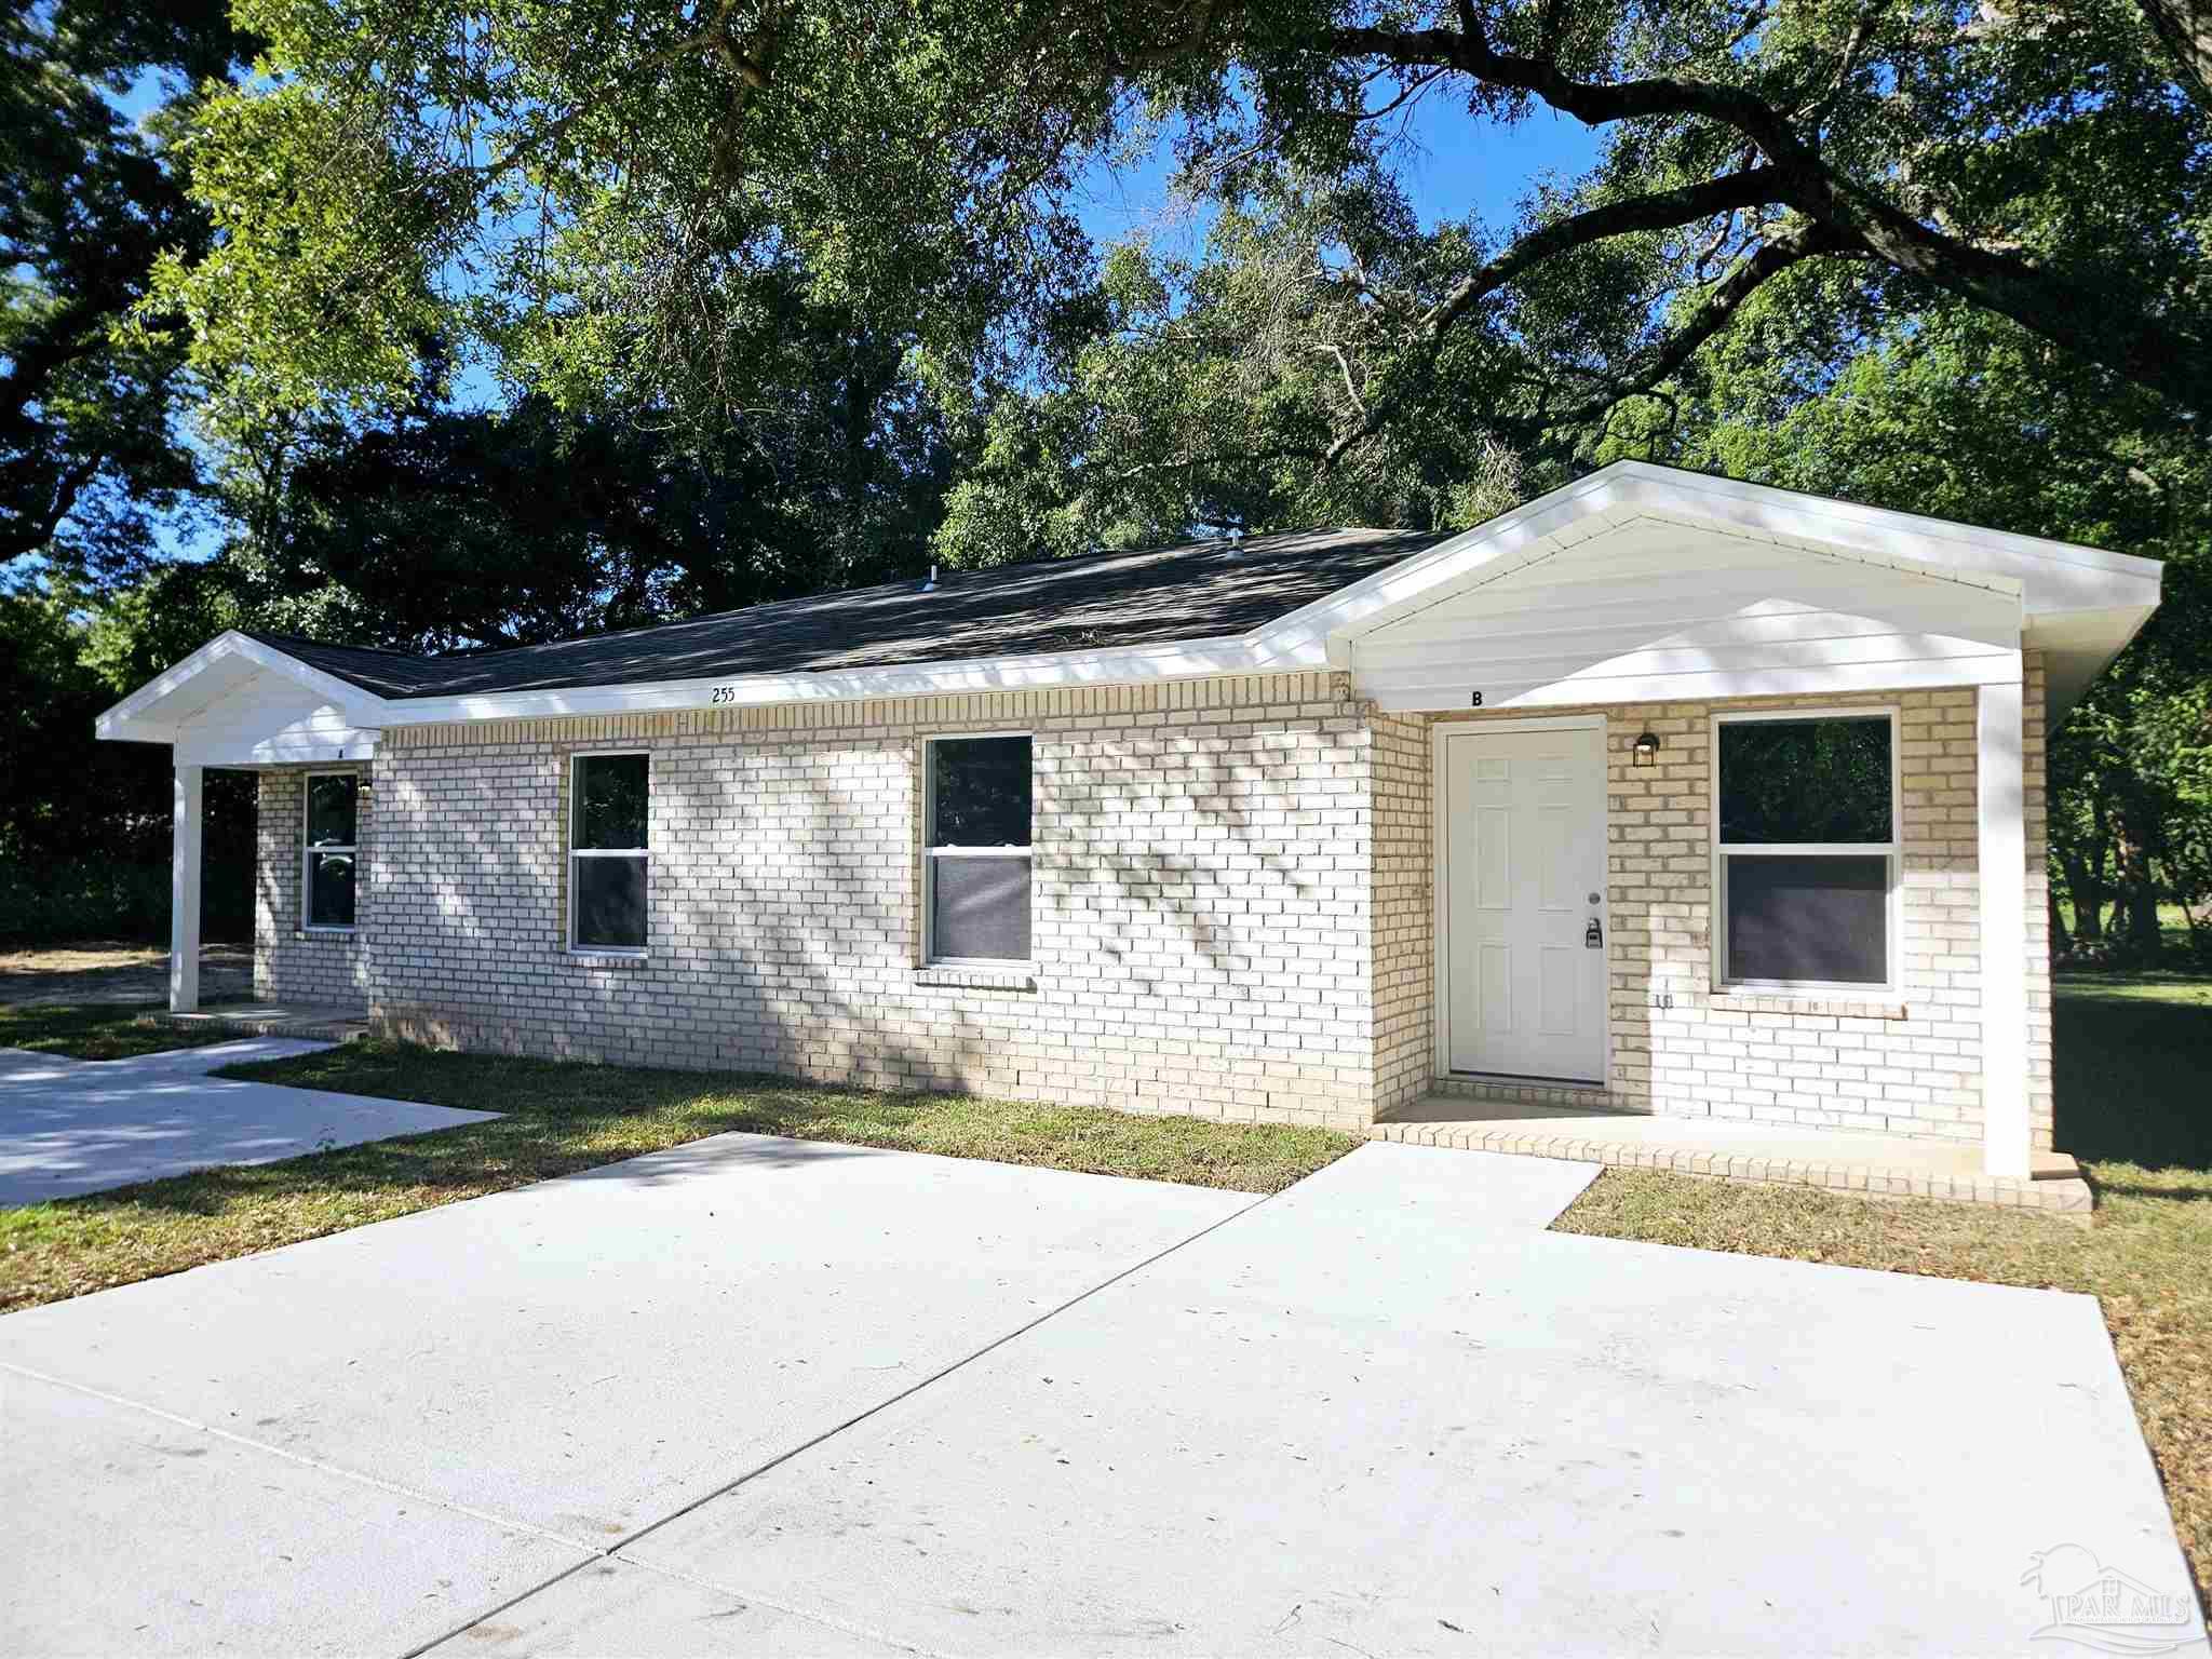
[[[1761,637],[1798,637],[1756,661],[1736,653],[1743,641],[1734,635],[1719,644],[1736,655],[1714,653],[1703,637],[1670,637],[1672,624],[1659,626],[1668,622],[1661,606],[1648,604],[1657,597],[1652,582],[1694,586],[1701,566],[1661,560],[1655,577],[1650,555],[1663,555],[1650,546],[1655,535],[1699,551],[1703,564],[1719,557],[1754,573],[1734,584],[1741,593],[1703,595],[1728,602],[1725,617],[1708,622],[1734,628],[1743,615]],[[1632,553],[1637,538],[1646,542],[1641,566],[1637,557],[1613,557]],[[1422,613],[1444,617],[1451,606],[1467,611],[1467,595],[1502,591],[1540,566],[1568,577],[1579,568],[1577,580],[1608,613],[1630,617],[1621,639],[1597,641],[1597,655],[1619,670],[1608,686],[1588,684],[1595,664],[1575,668],[1575,653],[1562,657],[1522,639],[1546,628],[1473,613],[1464,641],[1422,648],[1425,664],[1444,666],[1442,679],[1427,670],[1405,684],[1389,679],[1378,653],[1387,635],[1407,637],[1398,624]],[[1854,606],[1871,606],[1882,613],[1871,633],[1887,628],[1893,644],[1836,646],[1805,637],[1814,624],[1803,617],[1754,615],[1772,608],[1767,602],[1783,588],[1803,586],[1796,573],[1807,566],[1820,566],[1825,584],[1843,593],[1832,608],[1851,613],[1832,633],[1869,637],[1869,619]],[[281,728],[285,754],[305,745],[345,757],[356,739],[374,741],[389,726],[1325,668],[1349,672],[1356,695],[1385,708],[1464,708],[1460,679],[1469,672],[1484,675],[1475,690],[1511,692],[1486,706],[1540,708],[1588,701],[1597,690],[1650,701],[1692,690],[1745,697],[2017,681],[2024,648],[2044,657],[2046,708],[2057,717],[2157,608],[2159,575],[2157,560],[2128,553],[1619,460],[1455,535],[1285,531],[1241,544],[1091,553],[956,573],[933,588],[887,582],[657,628],[445,657],[226,633],[102,714],[100,734],[179,741],[179,754],[190,734],[192,754],[208,765],[257,765],[265,743],[254,743],[268,739],[261,728]],[[1964,599],[1907,604],[1913,595],[1898,595],[1900,580],[1918,582],[1920,597],[1978,595],[1978,622],[1960,619]],[[1586,622],[1575,617],[1568,630],[1590,635]],[[1978,650],[1942,644],[1953,635]],[[1588,657],[1595,646],[1584,646]],[[1659,648],[1674,655],[1650,657]],[[1511,655],[1517,666],[1493,679],[1498,664],[1478,670],[1482,653]],[[1958,661],[1966,655],[1973,661]],[[1697,668],[1694,686],[1674,672],[1683,668]]]

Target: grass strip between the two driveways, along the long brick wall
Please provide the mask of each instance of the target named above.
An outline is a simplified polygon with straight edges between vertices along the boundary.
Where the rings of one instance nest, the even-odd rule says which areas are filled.
[[[1358,1146],[1349,1135],[1281,1124],[801,1088],[765,1077],[456,1055],[394,1042],[356,1042],[217,1075],[507,1117],[0,1210],[0,1310],[226,1261],[726,1130],[1232,1192],[1279,1192]]]

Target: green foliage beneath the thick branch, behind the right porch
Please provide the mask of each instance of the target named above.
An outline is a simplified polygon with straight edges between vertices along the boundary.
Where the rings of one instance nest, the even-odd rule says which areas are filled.
[[[1624,431],[1599,453],[2166,560],[2157,615],[2053,732],[2048,812],[2053,898],[2073,916],[2053,911],[2062,949],[2157,958],[2161,900],[2212,922],[2212,456],[2197,422],[1960,305],[1838,341],[1809,281],[1759,296],[1679,429]]]

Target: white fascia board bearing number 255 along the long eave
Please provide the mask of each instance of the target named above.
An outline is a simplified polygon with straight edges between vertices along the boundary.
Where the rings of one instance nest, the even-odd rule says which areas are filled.
[[[898,668],[845,668],[812,675],[743,675],[739,679],[653,679],[630,686],[482,692],[473,697],[396,697],[383,726],[538,719],[549,714],[659,714],[681,708],[759,708],[765,703],[863,701],[872,697],[945,697],[987,690],[1053,690],[1133,686],[1157,679],[1296,672],[1327,668],[1316,639],[1283,650],[1259,637],[1181,639],[1113,650],[1048,650],[1029,657],[962,657]]]

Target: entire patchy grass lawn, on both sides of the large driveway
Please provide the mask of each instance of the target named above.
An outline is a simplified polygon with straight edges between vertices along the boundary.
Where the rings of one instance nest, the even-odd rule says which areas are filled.
[[[135,1011],[0,1009],[0,1042],[113,1057],[175,1046]],[[2057,1144],[2097,1188],[2084,1230],[1980,1206],[1608,1170],[1566,1232],[2099,1298],[2174,1524],[2212,1599],[2212,980],[2066,975]],[[1327,1130],[956,1095],[799,1088],[626,1066],[349,1044],[221,1075],[507,1113],[491,1124],[0,1210],[0,1310],[77,1296],[717,1135],[984,1157],[1274,1192],[1349,1152]],[[2022,1455],[2033,1455],[2024,1449]]]

